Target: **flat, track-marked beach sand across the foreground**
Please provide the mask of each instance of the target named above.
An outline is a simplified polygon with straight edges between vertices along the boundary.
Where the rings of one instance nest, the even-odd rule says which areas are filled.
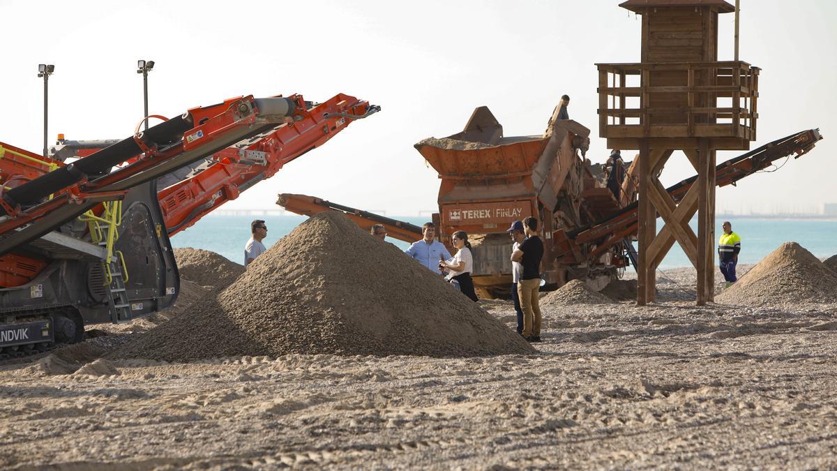
[[[0,367],[0,466],[837,466],[834,299],[698,308],[694,284],[545,309],[533,355],[105,360],[146,334],[100,329]]]

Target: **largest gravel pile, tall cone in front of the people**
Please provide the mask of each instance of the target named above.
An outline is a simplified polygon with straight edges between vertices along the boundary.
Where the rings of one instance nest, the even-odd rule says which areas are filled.
[[[114,358],[531,354],[477,303],[346,215],[300,224],[239,279]]]

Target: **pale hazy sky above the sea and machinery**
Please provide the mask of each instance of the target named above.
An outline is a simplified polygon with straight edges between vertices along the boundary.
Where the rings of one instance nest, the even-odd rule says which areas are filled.
[[[0,142],[40,153],[43,86],[49,141],[131,136],[142,110],[136,60],[154,60],[149,112],[177,116],[233,96],[357,96],[383,111],[288,163],[225,210],[277,210],[276,194],[309,194],[386,215],[437,209],[437,173],[413,148],[465,127],[488,106],[504,134],[540,134],[563,94],[603,162],[596,63],[639,62],[639,16],[615,0],[340,2],[31,2],[0,0]],[[837,203],[837,3],[741,0],[740,58],[762,68],[758,138],[819,127],[812,153],[775,173],[719,189],[721,213],[814,213]],[[720,17],[719,60],[733,58],[733,18]],[[625,153],[623,153],[625,155]],[[718,161],[738,155],[719,151]],[[694,170],[675,153],[662,174]]]

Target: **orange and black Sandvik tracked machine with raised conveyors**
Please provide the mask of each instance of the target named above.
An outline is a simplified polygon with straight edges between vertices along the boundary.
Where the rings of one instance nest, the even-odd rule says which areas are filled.
[[[379,110],[239,96],[140,132],[144,118],[131,137],[69,149],[71,163],[0,143],[0,359],[167,308],[170,235]]]

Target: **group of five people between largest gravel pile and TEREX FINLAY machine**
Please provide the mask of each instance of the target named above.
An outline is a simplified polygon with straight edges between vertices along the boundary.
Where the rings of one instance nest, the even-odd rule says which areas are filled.
[[[521,334],[530,342],[541,341],[541,308],[538,303],[538,292],[541,288],[541,259],[543,258],[543,241],[537,235],[538,221],[528,217],[516,220],[507,232],[513,241],[511,246],[511,297],[514,300],[517,313],[517,334]],[[380,234],[373,227],[372,235],[382,239],[386,236],[383,225]],[[445,279],[460,290],[465,296],[476,301],[474,281],[471,272],[474,270],[474,256],[471,254],[468,234],[464,230],[457,230],[451,235],[450,244],[456,249],[454,256],[450,256],[447,247],[435,239],[436,225],[432,222],[422,226],[422,240],[413,242],[404,251],[408,256],[419,261],[431,272],[444,275]]]

